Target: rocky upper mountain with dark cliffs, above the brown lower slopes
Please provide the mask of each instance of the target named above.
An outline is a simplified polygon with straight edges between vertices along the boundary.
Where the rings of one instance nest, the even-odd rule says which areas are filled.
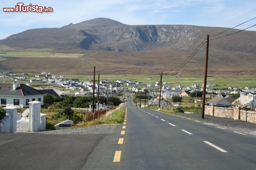
[[[95,18],[61,28],[30,29],[0,40],[0,45],[23,48],[52,48],[145,51],[160,47],[194,50],[206,38],[226,28],[185,25],[130,26],[107,18]],[[220,34],[218,38],[237,30]],[[225,38],[211,40],[214,50],[256,53],[256,32],[243,31]]]

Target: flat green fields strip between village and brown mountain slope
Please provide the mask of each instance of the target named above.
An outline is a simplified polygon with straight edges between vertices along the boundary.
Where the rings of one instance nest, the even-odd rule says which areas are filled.
[[[21,73],[15,73],[16,76],[20,76]],[[28,79],[34,78],[33,73],[28,73]],[[44,75],[41,75],[39,78],[43,78]],[[148,77],[152,77],[151,80],[148,80]],[[93,73],[90,75],[66,75],[66,79],[79,79],[80,81],[92,81],[93,80]],[[20,81],[18,83],[26,83],[28,81]],[[132,80],[134,82],[143,82],[145,85],[140,85],[140,87],[146,87],[148,83],[154,83],[156,81],[160,81],[160,73],[158,75],[101,75],[100,80],[113,80],[116,81],[117,79],[127,79]],[[191,77],[188,75],[181,75],[179,78],[175,78],[173,75],[162,75],[162,82],[166,84],[171,84],[171,87],[175,87],[177,84],[183,84],[184,86],[191,86],[193,83],[198,83],[201,87],[203,84],[203,77]],[[9,78],[0,78],[1,82],[13,82],[13,80]],[[98,81],[98,73],[95,74],[95,82]],[[230,86],[234,87],[256,87],[256,78],[217,78],[217,77],[208,77],[207,83],[212,84],[213,87],[210,89],[228,89]],[[32,86],[46,86],[45,83],[31,83]],[[164,84],[162,84],[164,85]],[[49,85],[47,85],[49,86]]]

